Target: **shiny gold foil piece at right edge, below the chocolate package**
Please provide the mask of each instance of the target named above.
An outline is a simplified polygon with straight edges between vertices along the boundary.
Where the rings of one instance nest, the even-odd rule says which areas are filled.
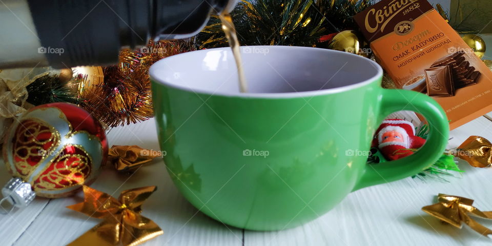
[[[452,153],[471,166],[485,168],[492,163],[492,144],[480,136],[470,136]]]

